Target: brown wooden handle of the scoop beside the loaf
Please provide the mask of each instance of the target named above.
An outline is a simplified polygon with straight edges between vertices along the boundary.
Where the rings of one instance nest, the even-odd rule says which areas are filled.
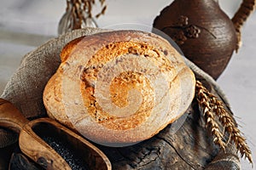
[[[0,127],[7,127],[20,133],[21,128],[28,122],[25,116],[6,99],[0,99]]]

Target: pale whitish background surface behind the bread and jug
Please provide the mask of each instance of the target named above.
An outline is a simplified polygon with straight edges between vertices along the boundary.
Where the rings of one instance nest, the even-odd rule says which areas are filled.
[[[106,14],[97,21],[99,27],[122,23],[152,26],[153,20],[170,0],[107,0]],[[219,0],[231,17],[241,0]],[[66,8],[59,0],[1,0],[0,7],[0,94],[20,59],[38,45],[56,37],[58,21]],[[98,7],[95,8],[97,11]],[[256,14],[252,14],[242,30],[242,46],[233,54],[218,84],[230,99],[232,111],[253,151],[256,169]],[[241,169],[252,169],[243,161]]]

